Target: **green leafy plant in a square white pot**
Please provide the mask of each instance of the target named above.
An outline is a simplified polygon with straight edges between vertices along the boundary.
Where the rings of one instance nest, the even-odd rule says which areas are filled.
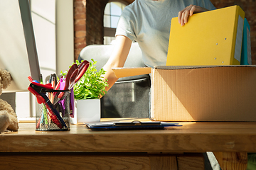
[[[104,69],[97,71],[95,67],[97,61],[91,60],[87,71],[73,87],[75,98],[75,111],[71,118],[73,124],[100,121],[100,96],[107,93],[105,87],[108,84],[107,80],[102,79],[106,71]],[[80,62],[78,60],[75,62],[79,66]],[[61,74],[65,76],[66,72]]]

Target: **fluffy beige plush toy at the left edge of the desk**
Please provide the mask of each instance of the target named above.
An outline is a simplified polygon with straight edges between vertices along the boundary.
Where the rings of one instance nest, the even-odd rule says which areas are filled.
[[[0,69],[0,95],[2,90],[6,89],[10,84],[11,74],[4,69]],[[18,119],[11,105],[0,99],[0,133],[5,130],[17,131]]]

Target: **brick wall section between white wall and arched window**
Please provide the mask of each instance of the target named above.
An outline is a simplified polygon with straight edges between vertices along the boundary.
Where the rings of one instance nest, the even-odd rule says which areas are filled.
[[[83,47],[103,44],[103,14],[108,0],[74,0],[75,60]]]

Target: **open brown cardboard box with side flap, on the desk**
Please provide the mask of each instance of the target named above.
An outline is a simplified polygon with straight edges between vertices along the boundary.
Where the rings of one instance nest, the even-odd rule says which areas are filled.
[[[116,76],[151,73],[151,118],[256,121],[256,66],[113,68]]]

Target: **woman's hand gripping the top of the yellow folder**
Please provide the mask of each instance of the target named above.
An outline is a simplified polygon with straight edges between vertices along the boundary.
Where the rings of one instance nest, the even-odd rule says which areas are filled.
[[[192,16],[193,13],[201,13],[205,11],[208,11],[208,9],[202,8],[201,6],[187,6],[186,8],[178,12],[178,23],[180,23],[181,26],[184,26],[184,24],[188,22],[188,16]]]

